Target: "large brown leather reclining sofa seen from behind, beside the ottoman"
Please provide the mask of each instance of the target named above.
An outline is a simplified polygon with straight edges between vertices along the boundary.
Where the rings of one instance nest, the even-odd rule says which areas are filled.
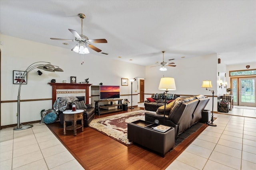
[[[165,119],[164,106],[161,106],[156,112],[145,112],[145,121],[174,127],[176,138],[202,119],[202,111],[209,100],[203,95],[180,96],[166,105]]]

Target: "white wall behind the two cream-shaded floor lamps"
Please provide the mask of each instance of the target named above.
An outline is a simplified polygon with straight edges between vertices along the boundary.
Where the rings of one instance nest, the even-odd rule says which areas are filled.
[[[214,90],[214,96],[217,92],[217,54],[206,55],[202,57],[194,57],[191,59],[181,59],[173,61],[176,67],[167,67],[167,71],[159,71],[158,67],[146,66],[145,93],[163,93],[158,90],[160,78],[173,77],[175,79],[176,90],[168,93],[181,95],[197,95],[212,96],[210,91],[201,88],[203,80],[211,80],[212,86],[210,90]],[[150,97],[145,95],[145,98]],[[212,97],[206,109],[212,110]],[[217,111],[217,99],[214,98],[214,111]]]

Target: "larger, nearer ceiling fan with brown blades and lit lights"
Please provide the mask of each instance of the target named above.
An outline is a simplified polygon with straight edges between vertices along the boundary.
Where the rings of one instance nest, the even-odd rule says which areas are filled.
[[[78,42],[78,44],[72,48],[71,50],[80,53],[80,54],[88,54],[90,53],[88,51],[89,47],[90,49],[93,49],[94,51],[100,52],[101,49],[98,49],[92,43],[107,43],[108,41],[106,39],[88,39],[87,36],[83,35],[83,19],[86,17],[84,14],[78,14],[79,18],[81,18],[81,35],[79,35],[75,30],[68,29],[74,36],[75,39],[60,39],[60,38],[50,38],[54,40],[62,40],[62,41],[73,41]]]

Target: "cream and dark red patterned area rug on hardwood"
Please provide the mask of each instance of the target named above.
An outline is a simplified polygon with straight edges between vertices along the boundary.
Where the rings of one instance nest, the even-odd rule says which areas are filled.
[[[108,135],[116,141],[129,146],[132,145],[127,139],[127,123],[136,120],[145,120],[145,110],[131,111],[117,115],[93,119],[89,127]]]

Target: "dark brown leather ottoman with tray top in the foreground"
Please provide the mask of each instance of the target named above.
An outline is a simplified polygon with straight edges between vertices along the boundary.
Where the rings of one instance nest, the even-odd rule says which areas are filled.
[[[143,120],[128,123],[128,139],[143,147],[154,150],[164,157],[166,152],[174,147],[174,128],[170,127],[168,131],[162,133],[152,129],[152,125],[157,124]]]

